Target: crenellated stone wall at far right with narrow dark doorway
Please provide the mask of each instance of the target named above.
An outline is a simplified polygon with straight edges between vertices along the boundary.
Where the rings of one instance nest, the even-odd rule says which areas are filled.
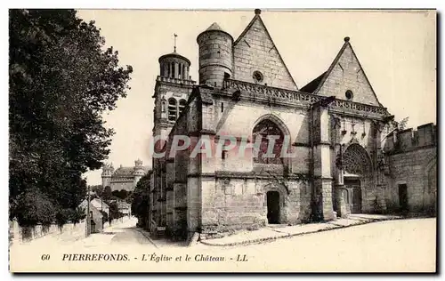
[[[417,130],[407,129],[390,137],[385,145],[386,205],[389,210],[401,208],[399,186],[408,189],[410,212],[434,212],[437,200],[436,127],[425,124]],[[395,142],[394,142],[395,139]]]

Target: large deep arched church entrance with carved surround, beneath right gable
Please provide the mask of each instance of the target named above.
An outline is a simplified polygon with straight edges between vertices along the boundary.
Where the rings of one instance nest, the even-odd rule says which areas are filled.
[[[369,209],[367,191],[372,186],[372,168],[368,153],[358,143],[344,151],[344,203],[348,213]],[[368,189],[368,190],[367,190]]]

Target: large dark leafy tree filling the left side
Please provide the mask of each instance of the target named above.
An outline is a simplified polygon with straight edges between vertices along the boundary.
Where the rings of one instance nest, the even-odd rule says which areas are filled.
[[[10,10],[9,201],[20,224],[47,222],[40,211],[52,208],[52,220],[63,223],[63,210],[77,209],[86,195],[82,174],[109,155],[114,132],[102,114],[129,88],[133,69],[119,67],[100,29],[76,14]]]

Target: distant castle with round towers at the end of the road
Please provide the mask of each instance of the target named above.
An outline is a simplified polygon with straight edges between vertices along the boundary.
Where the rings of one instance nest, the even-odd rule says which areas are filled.
[[[111,191],[133,191],[141,178],[150,171],[150,166],[142,165],[142,160],[134,161],[133,167],[120,165],[116,170],[113,165],[102,167],[102,188],[109,186]]]

